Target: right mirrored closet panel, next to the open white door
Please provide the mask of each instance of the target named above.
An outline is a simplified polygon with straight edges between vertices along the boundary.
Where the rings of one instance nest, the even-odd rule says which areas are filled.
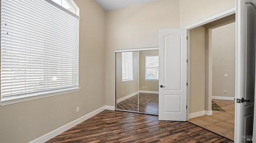
[[[158,114],[158,50],[139,53],[139,112]]]

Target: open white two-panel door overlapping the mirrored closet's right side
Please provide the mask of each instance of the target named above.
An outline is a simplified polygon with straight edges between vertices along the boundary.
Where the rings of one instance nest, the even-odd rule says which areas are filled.
[[[159,73],[159,120],[186,121],[186,29],[159,31]]]

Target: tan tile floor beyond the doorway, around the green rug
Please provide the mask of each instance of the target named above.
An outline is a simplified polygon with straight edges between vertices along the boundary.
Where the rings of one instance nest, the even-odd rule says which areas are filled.
[[[235,100],[212,99],[223,111],[212,111],[211,116],[199,116],[189,121],[234,141]]]

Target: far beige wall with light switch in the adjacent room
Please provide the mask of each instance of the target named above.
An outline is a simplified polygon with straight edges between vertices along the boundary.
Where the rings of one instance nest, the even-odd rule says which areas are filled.
[[[212,96],[235,97],[235,27],[232,23],[212,29]]]

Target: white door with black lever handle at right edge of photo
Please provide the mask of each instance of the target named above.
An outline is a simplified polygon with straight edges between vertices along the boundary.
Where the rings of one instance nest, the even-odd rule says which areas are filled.
[[[245,143],[252,141],[253,131],[256,0],[236,0],[236,2],[237,55],[235,142]],[[250,102],[242,102],[242,98],[244,100],[250,100]]]

